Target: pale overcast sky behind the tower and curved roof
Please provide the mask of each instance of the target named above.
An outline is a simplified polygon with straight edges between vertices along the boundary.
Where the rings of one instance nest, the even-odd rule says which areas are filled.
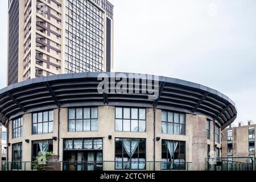
[[[256,123],[255,0],[109,0],[114,71],[197,82],[236,102]],[[0,11],[0,87],[6,84],[7,1]]]

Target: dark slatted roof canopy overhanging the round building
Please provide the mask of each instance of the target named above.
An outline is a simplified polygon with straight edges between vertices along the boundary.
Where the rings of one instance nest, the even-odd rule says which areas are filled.
[[[201,114],[217,120],[225,129],[237,117],[236,105],[217,90],[176,78],[159,77],[159,96],[148,100],[145,93],[98,93],[99,73],[74,73],[40,77],[10,85],[0,90],[0,121],[33,111],[77,106],[156,107],[189,114]],[[104,73],[109,75],[118,73]],[[131,73],[121,73],[130,78]],[[148,76],[148,75],[147,75]],[[152,76],[152,81],[154,76]],[[111,82],[111,81],[110,81]],[[118,81],[111,84],[117,84]],[[152,84],[154,85],[154,84]],[[135,83],[127,90],[134,89]],[[139,84],[143,88],[143,82]]]

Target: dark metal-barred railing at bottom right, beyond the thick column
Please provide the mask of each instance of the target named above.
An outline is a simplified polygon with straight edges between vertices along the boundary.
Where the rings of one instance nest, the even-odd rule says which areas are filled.
[[[255,160],[251,157],[206,158],[207,171],[255,171]]]

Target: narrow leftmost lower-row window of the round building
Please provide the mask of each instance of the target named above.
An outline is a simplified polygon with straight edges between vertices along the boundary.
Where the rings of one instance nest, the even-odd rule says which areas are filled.
[[[22,168],[22,143],[13,144],[13,169]]]

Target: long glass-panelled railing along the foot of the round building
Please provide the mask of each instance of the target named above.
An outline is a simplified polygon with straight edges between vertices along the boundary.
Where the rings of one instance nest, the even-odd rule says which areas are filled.
[[[114,161],[75,161],[51,162],[61,171],[190,171],[190,162],[114,162]],[[36,171],[33,162],[2,162],[2,171]],[[50,167],[51,170],[51,167]],[[55,170],[55,169],[53,169]],[[47,169],[46,169],[47,171]]]

